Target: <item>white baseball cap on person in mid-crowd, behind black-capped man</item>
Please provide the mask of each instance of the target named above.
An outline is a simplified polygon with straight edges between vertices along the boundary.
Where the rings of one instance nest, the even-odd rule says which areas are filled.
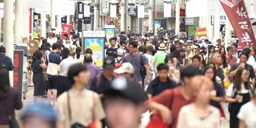
[[[116,74],[134,74],[134,66],[130,64],[130,62],[124,62],[122,63],[122,66],[120,66],[118,69],[114,70]]]

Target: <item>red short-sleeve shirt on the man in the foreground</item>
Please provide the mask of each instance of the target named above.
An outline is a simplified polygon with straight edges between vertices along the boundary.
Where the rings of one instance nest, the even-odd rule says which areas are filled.
[[[170,100],[171,96],[174,96],[174,98],[172,98],[174,101]],[[182,106],[186,106],[194,102],[194,97],[191,97],[189,100],[186,100],[186,98],[184,98],[182,94],[182,86],[179,86],[174,88],[173,90],[164,90],[161,94],[158,94],[157,96],[147,100],[146,104],[150,102],[157,102],[159,104],[162,104],[163,106],[167,106],[172,111],[172,114],[174,116],[173,127],[176,127],[178,122],[179,110],[181,110]]]

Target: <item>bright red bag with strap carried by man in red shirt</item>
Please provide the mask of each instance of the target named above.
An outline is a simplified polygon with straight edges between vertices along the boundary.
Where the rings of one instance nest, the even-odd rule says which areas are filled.
[[[171,98],[170,98],[170,110],[171,110],[171,106],[173,105],[174,102],[174,91],[171,90]],[[173,116],[174,118],[174,116]],[[174,120],[173,120],[174,122]],[[165,122],[162,121],[162,116],[160,114],[160,112],[156,112],[153,114],[153,116],[150,118],[150,122],[149,124],[146,126],[146,128],[170,128],[172,127],[172,123],[167,124]]]

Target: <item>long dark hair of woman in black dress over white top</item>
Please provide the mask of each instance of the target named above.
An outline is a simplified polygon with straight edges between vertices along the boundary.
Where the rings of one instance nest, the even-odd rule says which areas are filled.
[[[234,85],[234,88],[235,88],[236,90],[238,90],[238,91],[241,90],[241,82],[242,82],[241,76],[242,76],[243,70],[246,70],[246,69],[245,69],[245,68],[239,69],[238,72],[237,72],[237,74],[234,76],[233,85]],[[246,70],[246,71],[247,71],[247,70]],[[250,89],[250,81],[249,81],[249,80],[248,80],[248,82],[245,82],[245,88],[246,88],[247,90]]]

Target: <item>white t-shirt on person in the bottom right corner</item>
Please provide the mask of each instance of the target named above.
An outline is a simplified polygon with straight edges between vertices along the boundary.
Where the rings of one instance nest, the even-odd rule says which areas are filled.
[[[246,128],[256,127],[256,106],[253,102],[247,102],[241,107],[238,118],[246,123]]]

